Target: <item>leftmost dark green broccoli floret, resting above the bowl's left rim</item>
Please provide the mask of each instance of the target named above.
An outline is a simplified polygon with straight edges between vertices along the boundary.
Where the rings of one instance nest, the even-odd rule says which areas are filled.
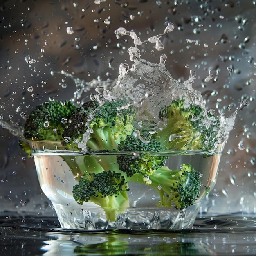
[[[77,106],[70,101],[47,101],[36,106],[25,121],[24,137],[29,140],[62,141],[68,120]]]

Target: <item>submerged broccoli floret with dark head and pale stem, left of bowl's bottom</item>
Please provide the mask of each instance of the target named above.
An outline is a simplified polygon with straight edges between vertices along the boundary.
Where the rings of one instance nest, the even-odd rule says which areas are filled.
[[[73,187],[73,196],[78,204],[94,202],[104,209],[109,221],[115,221],[129,207],[128,190],[124,175],[109,170],[83,175]]]

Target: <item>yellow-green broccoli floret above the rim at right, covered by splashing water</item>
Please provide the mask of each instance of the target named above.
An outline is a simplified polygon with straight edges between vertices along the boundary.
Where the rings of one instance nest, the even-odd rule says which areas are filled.
[[[220,122],[195,104],[176,99],[165,106],[159,118],[166,126],[153,135],[168,150],[214,150],[218,145]]]

